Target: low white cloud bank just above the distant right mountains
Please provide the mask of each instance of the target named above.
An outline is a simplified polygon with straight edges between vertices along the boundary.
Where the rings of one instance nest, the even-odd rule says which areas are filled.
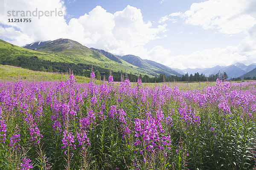
[[[154,60],[171,68],[211,68],[215,65],[231,65],[236,62],[251,64],[256,62],[255,57],[250,57],[240,51],[237,46],[226,48],[213,48],[195,51],[189,55],[171,56],[171,50],[162,46],[155,46],[147,53],[147,59]],[[256,53],[254,53],[256,54]]]

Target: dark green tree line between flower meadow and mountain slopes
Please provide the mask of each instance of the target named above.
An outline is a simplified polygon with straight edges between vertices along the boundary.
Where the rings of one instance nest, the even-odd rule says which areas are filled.
[[[74,75],[90,77],[92,65],[87,64],[74,64],[74,63],[67,63],[67,62],[52,62],[48,60],[41,60],[38,59],[37,56],[33,57],[25,57],[19,56],[16,58],[1,58],[0,63],[3,65],[13,65],[17,67],[27,68],[33,71],[44,71],[44,72],[59,72],[65,73],[69,70],[73,71]],[[102,80],[107,79],[110,74],[112,74],[114,81],[122,81],[127,76],[131,82],[136,82],[138,75],[132,73],[125,73],[124,71],[113,71],[111,72],[110,69],[101,68],[98,66],[93,66],[93,70],[95,72],[96,79]],[[211,74],[210,76],[206,77],[204,74],[195,73],[188,74],[186,73],[182,77],[179,76],[168,76],[166,77],[165,74],[160,74],[159,76],[149,77],[148,75],[139,75],[142,82],[173,82],[173,81],[216,81],[218,77],[224,77],[227,79],[228,76],[224,72],[223,75],[221,73],[218,74]]]

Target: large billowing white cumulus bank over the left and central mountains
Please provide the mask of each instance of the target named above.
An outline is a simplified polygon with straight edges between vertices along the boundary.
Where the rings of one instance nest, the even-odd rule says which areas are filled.
[[[126,6],[122,11],[109,13],[101,6],[96,6],[88,14],[79,18],[71,18],[66,23],[64,16],[57,17],[32,17],[31,23],[7,23],[6,11],[8,10],[38,10],[63,11],[66,8],[61,0],[35,0],[18,2],[12,6],[13,0],[5,1],[5,15],[0,18],[0,23],[11,28],[0,27],[0,34],[11,39],[15,45],[24,45],[34,41],[55,40],[69,38],[76,40],[88,47],[100,48],[115,54],[142,54],[146,51],[146,43],[160,38],[166,31],[166,24],[153,28],[150,21],[145,22],[140,9]],[[10,33],[12,31],[12,33]],[[7,34],[9,33],[9,34]],[[14,36],[15,35],[15,36]]]

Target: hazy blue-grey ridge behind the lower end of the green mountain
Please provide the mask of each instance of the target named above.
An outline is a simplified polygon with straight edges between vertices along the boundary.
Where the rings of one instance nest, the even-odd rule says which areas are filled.
[[[143,69],[147,69],[147,70],[151,70],[151,71],[154,71],[158,74],[165,74],[166,76],[175,76],[175,75],[180,75],[180,74],[173,74],[173,71],[169,72],[170,69],[167,70],[164,70],[162,68],[159,68],[159,67],[156,67],[154,65],[151,65],[149,64],[148,62],[146,62],[145,60],[141,59],[140,57],[138,56],[135,56],[135,55],[125,55],[125,56],[119,56],[119,58],[125,60],[126,62],[132,64],[132,65],[135,65],[139,68],[143,68]],[[150,60],[148,60],[150,61]],[[157,63],[157,62],[155,62]],[[158,65],[160,65],[159,63],[157,63]],[[155,65],[157,65],[155,64]],[[180,75],[181,76],[181,75]]]

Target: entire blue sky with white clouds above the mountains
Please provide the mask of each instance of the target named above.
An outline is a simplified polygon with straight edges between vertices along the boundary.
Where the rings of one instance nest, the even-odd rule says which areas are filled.
[[[7,11],[35,8],[64,15],[7,22],[15,18]],[[4,0],[0,38],[20,46],[70,38],[180,69],[248,65],[256,62],[255,8],[255,0]]]

